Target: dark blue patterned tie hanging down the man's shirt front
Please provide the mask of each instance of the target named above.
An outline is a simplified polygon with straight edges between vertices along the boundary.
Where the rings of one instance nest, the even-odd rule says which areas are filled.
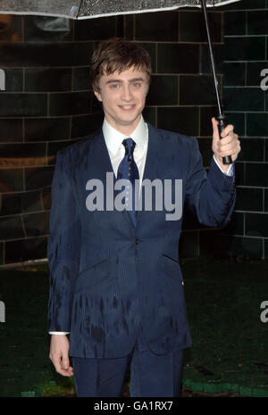
[[[117,179],[127,178],[130,180],[131,187],[130,189],[125,189],[126,191],[126,201],[125,205],[127,210],[130,212],[130,218],[133,222],[133,225],[136,226],[136,212],[135,212],[135,180],[138,180],[138,167],[134,161],[133,152],[136,143],[132,138],[126,138],[123,140],[122,145],[125,147],[125,155],[121,160],[121,163],[117,171]],[[127,200],[129,192],[132,192],[132,203],[129,203]]]

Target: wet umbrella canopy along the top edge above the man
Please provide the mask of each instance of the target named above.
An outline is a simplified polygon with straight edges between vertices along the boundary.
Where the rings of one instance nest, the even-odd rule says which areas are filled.
[[[206,0],[207,6],[239,0]],[[200,0],[0,0],[0,13],[35,14],[92,19],[138,12],[161,12],[180,7],[201,7]]]

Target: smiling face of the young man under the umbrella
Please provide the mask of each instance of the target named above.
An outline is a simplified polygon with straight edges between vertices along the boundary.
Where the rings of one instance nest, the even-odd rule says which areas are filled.
[[[148,79],[144,71],[130,68],[112,75],[103,75],[95,95],[103,103],[105,118],[123,134],[129,135],[136,127],[146,103]]]

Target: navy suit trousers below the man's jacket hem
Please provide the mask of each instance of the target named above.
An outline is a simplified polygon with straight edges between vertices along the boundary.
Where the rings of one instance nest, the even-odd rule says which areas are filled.
[[[142,330],[131,353],[121,358],[72,357],[78,397],[121,396],[130,368],[130,396],[180,397],[183,349],[157,355],[146,344]]]

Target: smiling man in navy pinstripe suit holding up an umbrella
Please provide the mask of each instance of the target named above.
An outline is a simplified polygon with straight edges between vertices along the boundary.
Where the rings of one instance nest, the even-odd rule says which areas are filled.
[[[240,151],[233,127],[220,140],[213,119],[214,158],[206,175],[196,139],[143,119],[151,72],[141,46],[100,43],[92,85],[103,127],[57,154],[48,246],[50,359],[58,373],[74,375],[78,396],[120,396],[129,364],[131,396],[180,396],[183,349],[191,339],[178,256],[181,215],[174,220],[169,206],[188,206],[212,227],[224,226],[234,207],[234,166],[222,163]],[[164,195],[155,187],[146,209],[143,184],[154,180],[179,180],[180,200],[176,187]],[[111,208],[111,184],[124,209]],[[159,209],[156,202],[168,195],[176,203]]]

